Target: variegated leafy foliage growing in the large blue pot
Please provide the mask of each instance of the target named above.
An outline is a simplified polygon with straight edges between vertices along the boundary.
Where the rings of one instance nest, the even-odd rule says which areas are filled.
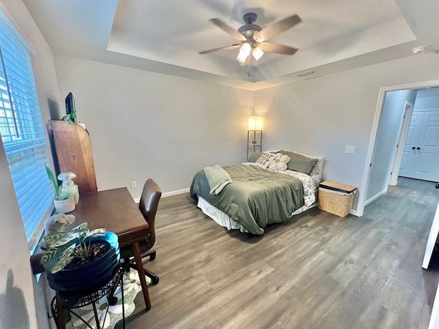
[[[93,238],[103,236],[104,228],[90,232],[88,223],[81,223],[70,232],[56,232],[45,236],[47,250],[41,258],[41,264],[47,271],[56,273],[78,259],[81,265],[88,263],[90,258],[99,253],[99,247],[93,247]],[[88,239],[89,238],[89,239]]]

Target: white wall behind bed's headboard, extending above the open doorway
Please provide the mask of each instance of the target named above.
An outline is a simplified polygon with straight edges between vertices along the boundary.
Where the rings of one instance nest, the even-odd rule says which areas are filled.
[[[255,92],[265,148],[326,156],[324,179],[361,186],[379,89],[436,80],[439,56],[410,56]],[[345,154],[355,145],[355,154]],[[359,193],[354,199],[357,209]]]

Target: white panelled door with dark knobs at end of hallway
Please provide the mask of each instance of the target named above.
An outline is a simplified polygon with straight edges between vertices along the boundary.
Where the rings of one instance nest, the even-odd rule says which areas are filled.
[[[439,181],[439,111],[413,112],[399,175]]]

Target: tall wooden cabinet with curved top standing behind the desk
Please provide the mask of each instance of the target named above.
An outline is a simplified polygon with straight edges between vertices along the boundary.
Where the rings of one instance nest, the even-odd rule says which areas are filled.
[[[51,120],[49,129],[54,136],[54,146],[61,173],[71,171],[80,193],[96,192],[95,163],[88,131],[78,123]]]

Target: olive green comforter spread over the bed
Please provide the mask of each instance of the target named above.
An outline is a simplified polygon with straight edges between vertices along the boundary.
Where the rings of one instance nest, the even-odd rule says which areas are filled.
[[[233,183],[221,193],[209,193],[201,170],[192,180],[190,195],[193,199],[200,195],[252,234],[263,234],[269,223],[286,221],[304,204],[303,186],[297,178],[244,164],[223,168]]]

